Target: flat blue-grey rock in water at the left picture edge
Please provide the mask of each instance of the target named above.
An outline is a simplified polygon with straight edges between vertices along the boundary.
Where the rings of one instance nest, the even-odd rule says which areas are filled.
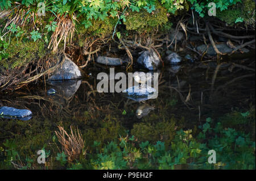
[[[13,107],[3,106],[0,107],[0,117],[10,119],[29,120],[31,119],[32,112],[30,110],[19,110]]]

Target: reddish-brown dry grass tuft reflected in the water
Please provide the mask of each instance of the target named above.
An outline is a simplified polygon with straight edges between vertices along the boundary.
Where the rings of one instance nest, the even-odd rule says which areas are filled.
[[[84,140],[78,128],[75,130],[75,134],[71,129],[71,133],[68,134],[63,127],[58,126],[59,131],[55,131],[56,136],[61,144],[62,149],[65,154],[68,155],[68,161],[73,161],[74,159],[79,158],[79,155],[82,153],[84,148]]]

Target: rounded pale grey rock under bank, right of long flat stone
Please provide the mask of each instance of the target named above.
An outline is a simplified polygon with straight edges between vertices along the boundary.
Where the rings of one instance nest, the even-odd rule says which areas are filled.
[[[141,56],[139,56],[137,63],[148,70],[156,70],[160,65],[160,59],[155,51],[151,49],[144,51]]]

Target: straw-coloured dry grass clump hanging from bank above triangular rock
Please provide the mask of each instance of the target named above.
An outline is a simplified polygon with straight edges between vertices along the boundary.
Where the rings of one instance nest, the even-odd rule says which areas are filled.
[[[72,42],[73,33],[75,31],[75,24],[72,19],[61,16],[58,18],[58,23],[55,31],[52,33],[51,41],[49,42],[48,48],[51,47],[53,52],[57,51],[58,45],[61,40],[64,40],[64,50],[66,47],[66,41]]]

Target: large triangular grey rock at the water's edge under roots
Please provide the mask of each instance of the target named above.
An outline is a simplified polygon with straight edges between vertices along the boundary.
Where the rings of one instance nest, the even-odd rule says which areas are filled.
[[[63,64],[56,69],[49,77],[48,81],[78,79],[82,77],[79,67],[65,54],[61,56]]]

